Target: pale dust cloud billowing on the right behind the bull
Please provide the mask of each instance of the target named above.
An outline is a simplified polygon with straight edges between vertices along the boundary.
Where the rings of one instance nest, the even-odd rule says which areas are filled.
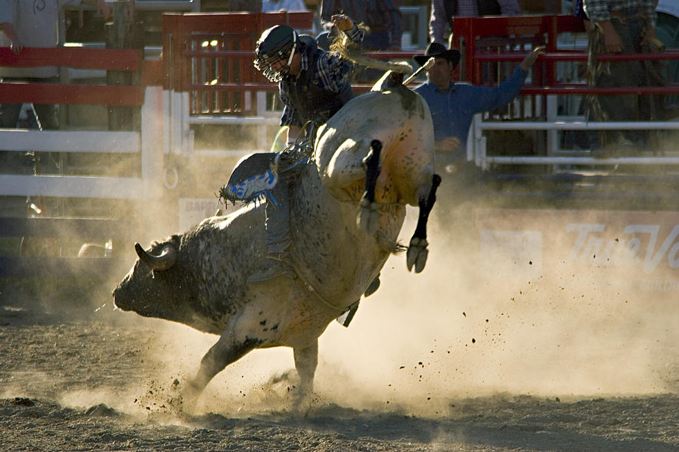
[[[673,300],[651,303],[657,295],[611,285],[610,269],[596,267],[479,278],[464,234],[432,226],[423,273],[391,257],[349,330],[332,325],[321,336],[320,390],[421,413],[496,392],[564,399],[671,389],[662,370],[679,339]],[[405,225],[404,241],[413,229]]]

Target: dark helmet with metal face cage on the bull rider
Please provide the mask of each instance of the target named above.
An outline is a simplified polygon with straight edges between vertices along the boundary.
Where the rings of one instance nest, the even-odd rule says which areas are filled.
[[[265,30],[257,41],[254,66],[272,82],[278,83],[290,71],[290,62],[297,48],[297,32],[288,25],[276,25]],[[276,62],[285,64],[275,71]]]

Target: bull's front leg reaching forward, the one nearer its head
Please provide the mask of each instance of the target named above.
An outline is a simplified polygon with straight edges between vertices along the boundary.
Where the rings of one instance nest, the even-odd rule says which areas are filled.
[[[227,332],[220,336],[219,341],[200,360],[200,368],[195,377],[187,382],[186,388],[182,392],[184,402],[193,404],[216,374],[224,370],[227,365],[238,361],[245,354],[254,350],[262,342],[263,340],[256,338],[234,340],[233,332],[227,329]]]

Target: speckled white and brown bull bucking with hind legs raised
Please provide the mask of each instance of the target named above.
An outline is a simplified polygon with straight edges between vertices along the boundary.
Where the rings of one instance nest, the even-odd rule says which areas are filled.
[[[204,219],[148,251],[136,244],[139,260],[115,289],[116,306],[220,335],[186,396],[200,395],[247,352],[281,345],[292,347],[301,393],[308,394],[318,337],[360,300],[398,248],[406,204],[420,208],[407,267],[423,270],[427,215],[441,180],[432,118],[416,93],[382,83],[319,129],[312,163],[291,194],[294,274],[247,284],[266,255],[263,209],[254,206]]]

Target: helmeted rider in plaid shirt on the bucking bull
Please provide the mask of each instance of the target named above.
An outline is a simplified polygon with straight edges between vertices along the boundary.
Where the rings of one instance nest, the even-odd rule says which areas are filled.
[[[333,15],[332,21],[353,42],[361,42],[364,32],[349,17]],[[314,38],[297,35],[290,26],[265,30],[257,42],[254,64],[269,80],[279,83],[285,104],[281,126],[289,126],[287,145],[297,141],[306,123],[324,123],[353,98],[349,83],[352,64],[336,53],[318,48]],[[280,160],[285,159],[288,154],[283,152]],[[276,205],[269,200],[265,205],[267,264],[265,269],[251,275],[248,282],[263,282],[292,272],[285,260],[285,250],[290,246],[289,190],[293,179],[281,174],[271,189]]]

